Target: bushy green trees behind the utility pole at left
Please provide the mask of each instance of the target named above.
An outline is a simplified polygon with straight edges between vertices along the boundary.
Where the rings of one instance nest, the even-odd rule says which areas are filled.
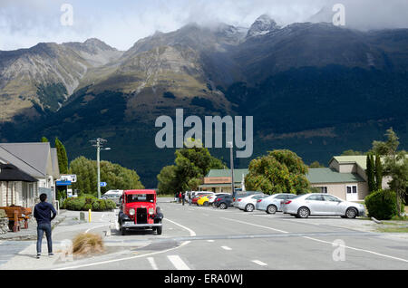
[[[78,189],[80,195],[97,195],[97,167],[96,161],[83,156],[73,159],[69,172],[76,174],[77,182],[73,183],[73,189]],[[104,193],[111,189],[142,189],[140,177],[136,171],[123,168],[119,164],[109,161],[101,161],[101,181],[107,186],[101,188]]]

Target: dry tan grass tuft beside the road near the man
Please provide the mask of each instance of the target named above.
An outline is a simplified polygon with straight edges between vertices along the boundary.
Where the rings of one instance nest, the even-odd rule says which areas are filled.
[[[101,235],[82,233],[73,238],[73,254],[93,254],[104,251]]]

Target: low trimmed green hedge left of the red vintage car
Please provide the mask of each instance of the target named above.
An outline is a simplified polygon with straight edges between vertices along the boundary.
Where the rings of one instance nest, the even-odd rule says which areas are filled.
[[[116,208],[116,204],[110,199],[98,199],[92,196],[69,197],[63,201],[63,209],[73,211],[106,211]]]

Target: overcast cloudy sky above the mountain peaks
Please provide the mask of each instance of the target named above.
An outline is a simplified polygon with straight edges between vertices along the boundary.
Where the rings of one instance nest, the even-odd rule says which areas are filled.
[[[155,31],[190,22],[249,26],[269,14],[285,25],[305,22],[323,7],[332,13],[336,3],[345,5],[349,27],[408,28],[408,0],[0,0],[0,50],[92,37],[127,50]],[[63,4],[73,7],[72,26],[61,24]]]

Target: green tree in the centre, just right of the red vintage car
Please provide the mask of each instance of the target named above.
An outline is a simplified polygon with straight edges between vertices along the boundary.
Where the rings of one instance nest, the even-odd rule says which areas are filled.
[[[211,156],[207,148],[182,148],[174,154],[175,165],[162,168],[158,175],[160,193],[195,190],[210,169],[224,168],[224,163]]]

